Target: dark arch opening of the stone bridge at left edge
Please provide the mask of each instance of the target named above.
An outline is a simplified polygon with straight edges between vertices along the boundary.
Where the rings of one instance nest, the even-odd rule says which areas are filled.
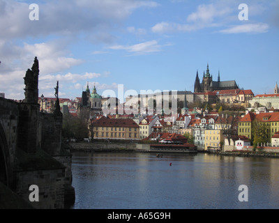
[[[5,131],[0,122],[0,181],[9,186],[10,155]]]

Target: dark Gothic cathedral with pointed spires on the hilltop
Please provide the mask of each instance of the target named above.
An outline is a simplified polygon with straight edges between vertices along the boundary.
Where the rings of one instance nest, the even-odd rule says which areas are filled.
[[[206,93],[208,91],[220,91],[220,90],[230,90],[230,89],[239,89],[235,81],[220,81],[220,72],[218,74],[218,81],[214,82],[212,75],[209,72],[209,64],[207,64],[206,73],[202,78],[202,83],[199,82],[199,73],[197,71],[197,76],[195,79],[195,93]]]

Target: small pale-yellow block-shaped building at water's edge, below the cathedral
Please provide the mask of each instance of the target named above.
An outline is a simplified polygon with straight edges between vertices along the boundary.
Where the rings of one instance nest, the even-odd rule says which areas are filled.
[[[223,130],[204,130],[204,150],[220,148],[223,141]]]

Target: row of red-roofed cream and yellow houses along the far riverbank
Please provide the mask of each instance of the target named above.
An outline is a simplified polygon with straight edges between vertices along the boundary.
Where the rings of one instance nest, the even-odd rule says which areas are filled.
[[[194,144],[201,150],[218,149],[223,144],[236,146],[250,144],[252,121],[257,120],[269,126],[269,142],[279,146],[279,112],[253,113],[243,116],[221,116],[217,112],[199,113],[197,109],[185,115],[174,116],[100,116],[93,120],[94,139],[151,140],[163,139],[163,134],[176,137],[188,133],[193,136]],[[228,130],[231,132],[226,133]],[[238,142],[239,144],[239,142]]]

